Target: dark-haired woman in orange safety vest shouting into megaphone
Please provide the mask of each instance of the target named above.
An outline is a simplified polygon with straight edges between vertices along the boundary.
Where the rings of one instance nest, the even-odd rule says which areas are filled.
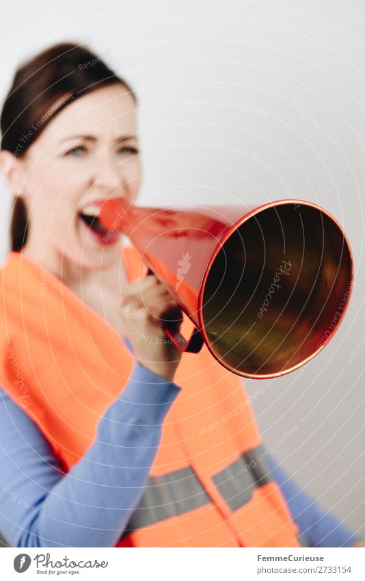
[[[165,341],[178,305],[104,240],[100,205],[140,186],[135,108],[77,44],[23,64],[5,99],[0,530],[19,547],[349,546],[267,457],[240,378]]]

